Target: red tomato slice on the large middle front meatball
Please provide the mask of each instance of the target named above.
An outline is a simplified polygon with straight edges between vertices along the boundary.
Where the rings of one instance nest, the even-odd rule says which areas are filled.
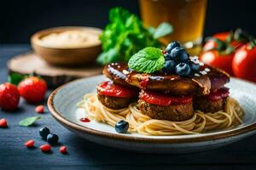
[[[143,91],[140,94],[140,99],[153,105],[175,105],[175,104],[187,104],[192,101],[192,96],[184,97],[172,97],[167,94],[152,91]]]

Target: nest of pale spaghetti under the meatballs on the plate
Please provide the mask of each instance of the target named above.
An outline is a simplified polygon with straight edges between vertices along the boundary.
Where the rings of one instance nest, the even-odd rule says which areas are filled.
[[[78,104],[83,108],[91,120],[105,122],[115,126],[116,122],[125,120],[129,122],[130,133],[140,133],[143,135],[176,135],[194,134],[205,131],[229,128],[240,124],[244,111],[236,99],[228,98],[224,111],[215,113],[204,113],[195,111],[194,116],[183,122],[172,122],[152,119],[137,108],[137,103],[131,103],[127,108],[113,110],[109,109],[97,99],[96,94],[86,94]]]

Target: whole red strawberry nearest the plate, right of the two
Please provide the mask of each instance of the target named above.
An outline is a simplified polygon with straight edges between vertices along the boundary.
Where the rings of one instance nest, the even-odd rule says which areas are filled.
[[[38,77],[27,77],[18,85],[20,95],[29,103],[38,103],[44,99],[47,85]]]

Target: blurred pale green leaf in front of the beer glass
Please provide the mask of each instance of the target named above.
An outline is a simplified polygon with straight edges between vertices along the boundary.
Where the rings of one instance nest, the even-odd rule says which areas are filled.
[[[158,39],[160,37],[165,37],[166,35],[172,33],[173,27],[167,22],[163,22],[158,26],[154,31],[154,39]]]

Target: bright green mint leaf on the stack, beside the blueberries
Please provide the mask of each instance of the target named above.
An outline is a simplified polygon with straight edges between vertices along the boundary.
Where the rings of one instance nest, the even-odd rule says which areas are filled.
[[[160,71],[165,64],[165,57],[160,48],[143,48],[131,56],[128,66],[137,72],[153,73]]]

